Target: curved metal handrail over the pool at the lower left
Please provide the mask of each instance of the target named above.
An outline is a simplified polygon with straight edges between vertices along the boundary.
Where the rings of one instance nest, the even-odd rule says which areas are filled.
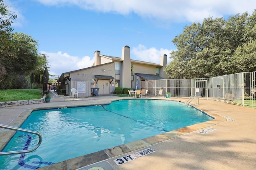
[[[39,141],[38,144],[36,145],[36,147],[34,147],[33,149],[29,149],[29,150],[17,150],[17,151],[8,151],[8,152],[0,152],[0,156],[1,155],[9,155],[9,154],[22,154],[22,153],[28,153],[28,152],[32,152],[34,150],[36,150],[40,144],[42,143],[42,135],[38,132],[35,131],[30,131],[30,130],[26,130],[26,129],[21,129],[18,127],[12,127],[12,126],[8,126],[8,125],[2,125],[0,124],[0,127],[4,128],[4,129],[10,129],[10,130],[14,130],[14,131],[21,131],[21,132],[26,132],[26,133],[31,133],[31,134],[35,134],[38,135],[39,137]]]

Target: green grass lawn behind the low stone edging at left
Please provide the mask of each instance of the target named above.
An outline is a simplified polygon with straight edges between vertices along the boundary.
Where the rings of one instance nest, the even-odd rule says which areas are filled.
[[[40,89],[11,89],[0,90],[0,102],[30,100],[42,98]]]

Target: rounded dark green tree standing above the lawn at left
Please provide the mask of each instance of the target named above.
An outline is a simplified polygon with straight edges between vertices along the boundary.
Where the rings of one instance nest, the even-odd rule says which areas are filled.
[[[2,66],[8,74],[2,77],[1,88],[23,88],[26,77],[38,66],[37,41],[23,33],[12,33],[9,53],[2,56]]]

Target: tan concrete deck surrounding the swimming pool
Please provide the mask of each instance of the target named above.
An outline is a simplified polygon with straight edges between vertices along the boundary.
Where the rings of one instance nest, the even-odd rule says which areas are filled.
[[[128,98],[116,96],[75,98],[74,100],[72,98],[56,98],[50,103],[1,107],[0,124],[17,127],[36,108],[108,104],[122,99]],[[188,98],[154,97],[153,99],[180,102],[188,100]],[[102,167],[104,170],[256,169],[256,109],[212,100],[200,100],[199,102],[199,104],[195,104],[195,100],[193,100],[190,104],[216,117],[215,120],[80,156],[40,169],[88,170],[92,167]],[[215,130],[208,133],[198,133],[209,128]],[[0,131],[0,144],[6,143],[7,133],[10,131],[6,129]],[[154,149],[155,152],[119,166],[114,162],[118,158],[148,148]]]

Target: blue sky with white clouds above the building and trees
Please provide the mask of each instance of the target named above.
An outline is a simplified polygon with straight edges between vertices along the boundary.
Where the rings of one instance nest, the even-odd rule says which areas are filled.
[[[256,0],[4,0],[17,15],[16,32],[38,41],[49,73],[92,66],[94,52],[160,64],[176,50],[172,43],[186,25],[204,18],[225,18],[256,9]]]

